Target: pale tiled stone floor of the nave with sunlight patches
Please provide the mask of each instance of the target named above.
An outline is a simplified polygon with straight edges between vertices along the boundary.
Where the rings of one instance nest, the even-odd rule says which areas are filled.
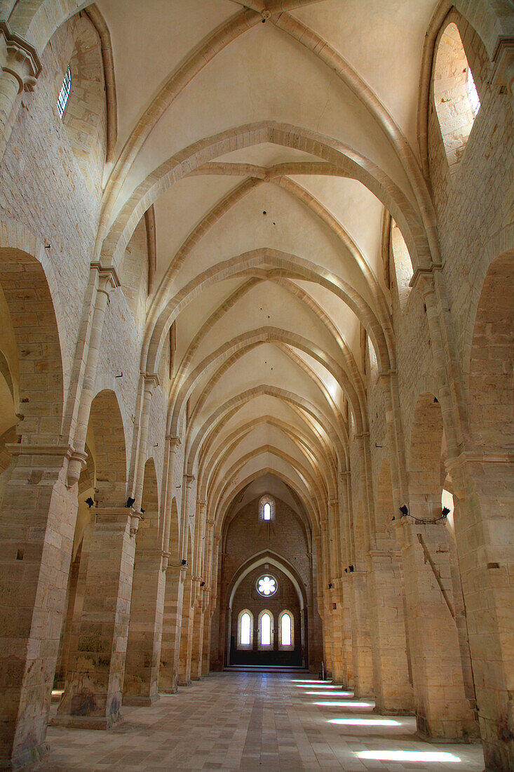
[[[124,708],[109,732],[49,728],[41,768],[482,772],[480,745],[424,743],[413,718],[378,716],[370,700],[310,678],[215,673],[150,708]]]

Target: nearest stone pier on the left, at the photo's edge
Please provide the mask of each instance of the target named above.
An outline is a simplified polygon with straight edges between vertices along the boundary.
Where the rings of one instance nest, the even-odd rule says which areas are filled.
[[[69,447],[9,450],[0,512],[0,767],[18,768],[46,752],[77,503],[66,489]]]

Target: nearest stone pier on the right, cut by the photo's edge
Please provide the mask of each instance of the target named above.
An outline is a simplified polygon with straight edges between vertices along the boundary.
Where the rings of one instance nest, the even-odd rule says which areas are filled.
[[[478,720],[487,770],[514,769],[514,456],[447,462]]]

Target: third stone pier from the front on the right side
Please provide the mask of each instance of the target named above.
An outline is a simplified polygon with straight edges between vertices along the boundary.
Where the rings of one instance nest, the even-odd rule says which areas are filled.
[[[377,712],[413,713],[405,638],[401,553],[370,550],[369,605]]]

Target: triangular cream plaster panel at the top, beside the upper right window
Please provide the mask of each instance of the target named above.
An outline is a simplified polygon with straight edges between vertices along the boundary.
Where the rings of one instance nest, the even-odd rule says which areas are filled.
[[[421,52],[437,5],[438,0],[324,0],[293,12],[357,70],[416,153]]]

